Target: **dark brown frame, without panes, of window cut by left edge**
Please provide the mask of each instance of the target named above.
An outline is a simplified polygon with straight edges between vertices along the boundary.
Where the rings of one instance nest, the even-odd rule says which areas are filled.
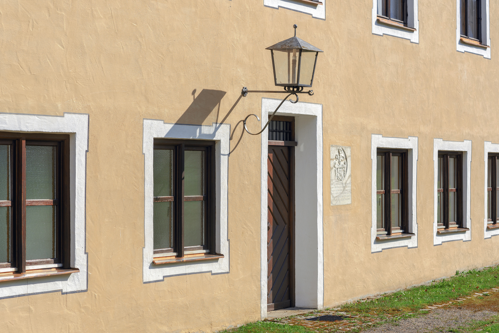
[[[70,189],[69,189],[69,135],[47,133],[0,132],[0,142],[10,144],[11,153],[11,253],[10,263],[0,268],[15,267],[16,271],[6,280],[23,279],[26,266],[62,264],[62,270],[71,267]],[[56,194],[55,200],[26,200],[26,145],[55,146]],[[6,202],[1,202],[6,205]],[[26,261],[26,206],[56,206],[56,258]],[[53,269],[51,269],[53,271]],[[69,271],[66,273],[71,273]],[[61,271],[38,275],[62,274]]]

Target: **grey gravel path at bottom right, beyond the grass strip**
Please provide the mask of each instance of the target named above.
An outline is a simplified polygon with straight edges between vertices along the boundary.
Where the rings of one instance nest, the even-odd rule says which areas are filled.
[[[487,320],[492,316],[498,315],[497,312],[482,310],[472,311],[468,309],[446,308],[433,310],[430,314],[419,318],[410,318],[397,321],[396,325],[384,324],[374,329],[362,331],[362,333],[430,333],[430,332],[448,332],[449,329],[466,327],[473,320]],[[487,332],[484,330],[484,332]]]

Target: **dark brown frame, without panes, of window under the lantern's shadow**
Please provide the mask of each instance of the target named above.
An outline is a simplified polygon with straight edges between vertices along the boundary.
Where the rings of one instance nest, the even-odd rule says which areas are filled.
[[[188,149],[186,149],[188,148]],[[186,251],[209,250],[209,255],[206,259],[210,259],[210,255],[221,256],[216,253],[216,188],[215,188],[215,141],[209,140],[176,140],[176,139],[154,139],[153,149],[173,149],[173,189],[172,197],[155,197],[154,202],[173,201],[173,248],[154,249],[154,254],[169,254],[176,253],[176,258],[184,258]],[[204,150],[206,152],[205,159],[205,193],[204,196],[185,196],[184,195],[184,159],[185,150]],[[175,198],[183,198],[183,200],[175,200]],[[204,201],[205,210],[205,234],[204,246],[184,246],[184,202],[185,201]],[[164,261],[165,263],[167,261]],[[169,262],[169,261],[168,261]],[[161,263],[156,260],[156,264]]]

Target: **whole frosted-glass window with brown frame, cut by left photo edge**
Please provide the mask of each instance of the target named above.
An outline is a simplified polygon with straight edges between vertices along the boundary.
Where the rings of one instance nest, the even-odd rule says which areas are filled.
[[[69,136],[0,132],[0,268],[69,269],[69,218]]]

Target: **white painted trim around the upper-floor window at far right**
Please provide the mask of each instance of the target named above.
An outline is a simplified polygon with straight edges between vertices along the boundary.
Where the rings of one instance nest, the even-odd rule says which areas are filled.
[[[484,40],[486,41],[486,44],[488,46],[491,46],[491,25],[490,25],[490,20],[489,20],[489,0],[484,0],[485,1],[485,6],[482,6],[482,42]],[[483,1],[482,1],[483,2]],[[480,46],[474,46],[471,44],[466,44],[461,41],[461,1],[456,0],[457,4],[457,22],[458,25],[456,27],[456,48],[457,51],[459,52],[470,52],[470,53],[475,53],[475,54],[480,54],[484,58],[490,59],[491,58],[491,48],[487,47],[480,47]],[[485,36],[485,38],[484,38]]]

